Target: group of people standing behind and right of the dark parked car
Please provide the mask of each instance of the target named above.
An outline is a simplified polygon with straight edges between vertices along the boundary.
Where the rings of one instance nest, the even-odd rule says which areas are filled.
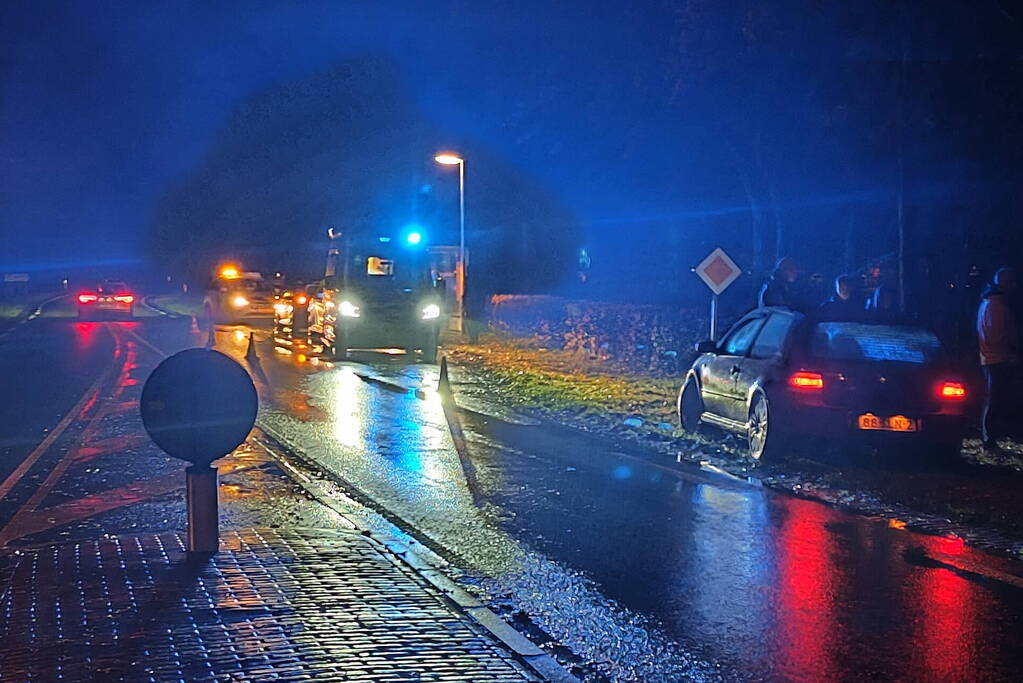
[[[997,440],[1007,435],[1015,403],[1013,392],[1020,360],[1019,326],[1012,298],[1018,286],[1012,268],[999,268],[981,295],[977,311],[977,343],[986,392],[981,413],[984,448],[997,450]],[[824,303],[814,302],[800,281],[796,262],[786,257],[760,288],[758,306],[784,306],[803,313],[816,311],[827,318],[855,319],[864,313],[895,312],[895,292],[884,284],[861,293],[860,283],[851,275],[835,278],[834,293]]]

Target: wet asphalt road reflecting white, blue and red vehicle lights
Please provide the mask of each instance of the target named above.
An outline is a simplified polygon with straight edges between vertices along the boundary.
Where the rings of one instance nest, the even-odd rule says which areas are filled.
[[[18,397],[0,406],[4,479],[105,371],[118,348],[107,328],[154,358],[204,340],[187,320],[77,323],[61,309],[0,340],[4,386]],[[249,331],[221,327],[217,348],[244,362]],[[468,471],[429,391],[435,367],[368,355],[330,366],[256,331],[261,424],[592,671],[1023,680],[1017,562],[486,403],[458,412]],[[9,503],[0,501],[4,514]]]

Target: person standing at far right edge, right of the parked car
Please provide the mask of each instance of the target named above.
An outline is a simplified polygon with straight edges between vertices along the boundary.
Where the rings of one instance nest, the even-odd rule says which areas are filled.
[[[977,342],[987,394],[981,417],[984,448],[997,448],[1006,411],[1013,403],[1013,374],[1019,362],[1019,328],[1009,297],[1016,291],[1016,271],[1000,268],[984,290],[977,311]]]

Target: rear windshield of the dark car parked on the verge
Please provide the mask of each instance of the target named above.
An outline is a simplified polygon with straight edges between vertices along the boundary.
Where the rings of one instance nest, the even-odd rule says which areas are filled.
[[[810,337],[810,355],[840,361],[931,363],[941,342],[926,329],[861,322],[821,322]]]

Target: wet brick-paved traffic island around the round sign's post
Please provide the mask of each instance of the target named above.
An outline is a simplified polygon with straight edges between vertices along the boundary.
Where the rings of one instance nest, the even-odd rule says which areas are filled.
[[[354,531],[107,536],[0,556],[0,680],[536,680]]]

